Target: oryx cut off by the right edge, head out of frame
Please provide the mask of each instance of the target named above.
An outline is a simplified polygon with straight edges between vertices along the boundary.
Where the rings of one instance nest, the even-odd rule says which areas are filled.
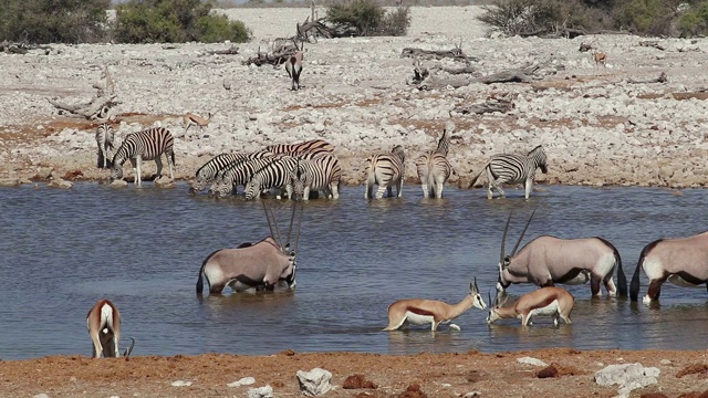
[[[681,287],[706,283],[708,289],[708,231],[687,238],[659,239],[644,247],[632,276],[632,301],[637,301],[639,295],[639,269],[644,269],[649,279],[644,303],[659,300],[662,284],[667,280]]]

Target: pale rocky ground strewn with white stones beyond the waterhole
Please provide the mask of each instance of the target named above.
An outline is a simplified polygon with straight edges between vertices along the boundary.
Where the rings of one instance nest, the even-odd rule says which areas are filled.
[[[323,12],[323,11],[321,11]],[[633,35],[573,40],[494,38],[475,20],[476,7],[413,8],[404,38],[322,40],[305,46],[304,88],[291,92],[283,67],[247,66],[277,38],[294,32],[309,9],[233,9],[253,30],[237,55],[212,55],[231,44],[53,45],[25,55],[0,54],[0,179],[54,176],[104,179],[95,167],[96,124],[60,115],[48,98],[87,102],[108,65],[119,105],[118,135],[153,125],[176,136],[176,177],[222,151],[254,150],[315,137],[336,146],[345,181],[363,181],[363,159],[404,144],[407,178],[414,161],[433,148],[450,117],[457,126],[450,160],[460,179],[480,170],[494,153],[525,153],[543,145],[550,171],[545,184],[701,187],[708,166],[704,127],[708,97],[704,65],[708,40],[645,39]],[[656,45],[641,45],[643,41]],[[591,43],[607,53],[606,67],[580,52]],[[471,83],[420,91],[404,48],[451,50],[460,45],[476,71],[471,77],[539,65],[527,83]],[[461,67],[452,60],[424,61]],[[641,83],[664,72],[666,83]],[[229,87],[230,90],[226,90]],[[511,101],[507,113],[454,112],[488,101]],[[202,132],[185,136],[186,112],[215,113]],[[149,163],[147,171],[154,170]],[[129,171],[127,171],[129,175]],[[457,182],[457,177],[451,184]],[[480,181],[480,182],[483,182]]]

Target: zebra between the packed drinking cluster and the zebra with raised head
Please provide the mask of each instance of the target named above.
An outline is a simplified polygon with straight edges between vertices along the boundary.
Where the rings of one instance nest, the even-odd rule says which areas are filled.
[[[366,191],[364,198],[372,198],[374,185],[378,185],[376,199],[384,197],[384,190],[388,190],[388,196],[393,196],[393,185],[396,185],[396,196],[403,196],[403,179],[405,177],[406,155],[403,146],[396,145],[389,154],[376,154],[366,159]]]

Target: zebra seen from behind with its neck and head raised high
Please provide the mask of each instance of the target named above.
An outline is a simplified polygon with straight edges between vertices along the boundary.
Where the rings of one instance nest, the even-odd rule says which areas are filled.
[[[450,134],[454,130],[455,124],[448,122],[442,130],[440,140],[438,140],[437,149],[420,155],[416,160],[416,168],[418,169],[420,187],[425,198],[435,196],[440,199],[442,197],[442,187],[452,174],[452,166],[447,159],[447,153],[450,148]]]

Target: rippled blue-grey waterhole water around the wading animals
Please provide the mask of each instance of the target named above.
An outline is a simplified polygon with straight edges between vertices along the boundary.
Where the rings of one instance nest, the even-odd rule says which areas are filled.
[[[646,243],[708,229],[705,190],[543,189],[529,201],[513,189],[506,200],[488,201],[481,189],[446,189],[435,200],[408,185],[402,199],[367,201],[363,188],[344,188],[337,201],[306,203],[295,292],[198,297],[197,273],[209,253],[268,235],[259,201],[194,197],[186,185],[3,188],[0,358],[90,355],[85,316],[103,297],[121,310],[123,346],[135,337],[134,355],[706,348],[695,333],[708,325],[705,286],[670,284],[654,306],[590,300],[589,285],[566,286],[576,297],[569,326],[543,318],[528,328],[518,320],[488,326],[486,313],[472,308],[454,321],[461,332],[445,325],[435,334],[426,327],[379,332],[396,300],[457,302],[472,276],[486,296],[510,210],[508,248],[537,209],[524,242],[539,234],[602,235],[620,250],[627,277]],[[279,205],[281,224],[289,206]],[[644,294],[646,279],[642,284]],[[510,293],[532,289],[514,285]]]

